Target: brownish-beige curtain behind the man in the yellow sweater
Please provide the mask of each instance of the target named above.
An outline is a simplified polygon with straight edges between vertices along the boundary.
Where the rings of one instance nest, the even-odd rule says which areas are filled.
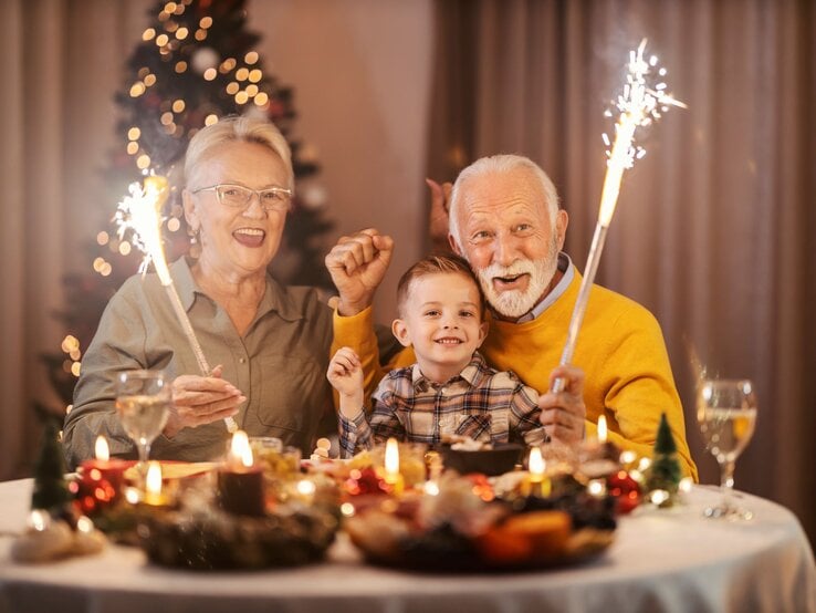
[[[775,0],[440,0],[429,174],[517,152],[553,177],[586,260],[605,172],[603,111],[642,38],[689,108],[627,173],[598,281],[660,320],[702,478],[692,355],[752,377],[757,430],[736,487],[816,537],[816,8]]]

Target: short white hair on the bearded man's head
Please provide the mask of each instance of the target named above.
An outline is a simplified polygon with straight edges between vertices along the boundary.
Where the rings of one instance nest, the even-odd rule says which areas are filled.
[[[544,205],[547,207],[550,212],[551,224],[555,224],[555,214],[558,211],[558,193],[555,189],[555,185],[550,179],[547,174],[541,169],[535,162],[529,157],[514,154],[500,154],[489,157],[481,157],[473,164],[464,168],[457,177],[453,184],[453,189],[450,194],[450,206],[448,208],[448,231],[453,237],[460,251],[462,250],[462,240],[459,236],[459,219],[457,211],[459,209],[459,200],[461,200],[461,191],[463,185],[475,177],[489,175],[492,173],[506,174],[515,169],[523,168],[530,170],[533,177],[535,177],[542,190],[544,191]]]

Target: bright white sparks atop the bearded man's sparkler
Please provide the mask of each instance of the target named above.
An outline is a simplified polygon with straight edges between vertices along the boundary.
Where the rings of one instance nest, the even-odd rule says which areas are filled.
[[[655,55],[648,61],[644,59],[645,50],[646,39],[640,42],[636,51],[629,52],[624,92],[614,101],[619,115],[615,124],[615,143],[611,150],[607,150],[609,159],[598,212],[598,224],[605,228],[609,226],[615,214],[624,170],[631,168],[636,158],[639,159],[646,155],[642,147],[635,145],[635,131],[659,120],[661,111],[665,112],[669,106],[686,108],[686,104],[666,92],[667,85],[663,81],[655,86],[650,85],[648,77],[655,73],[662,77],[666,69],[657,67]],[[609,138],[604,135],[604,141],[608,143]]]

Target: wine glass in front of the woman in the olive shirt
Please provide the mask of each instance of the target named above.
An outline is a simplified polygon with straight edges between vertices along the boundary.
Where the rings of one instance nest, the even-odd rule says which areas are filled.
[[[116,375],[116,413],[139,453],[144,485],[150,444],[167,424],[170,383],[161,371],[124,371]]]

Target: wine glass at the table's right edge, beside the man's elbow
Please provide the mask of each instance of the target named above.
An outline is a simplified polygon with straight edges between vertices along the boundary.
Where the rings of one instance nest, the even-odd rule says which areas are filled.
[[[751,440],[756,423],[756,393],[749,380],[703,380],[697,395],[697,419],[705,448],[720,465],[722,500],[705,517],[751,519],[753,512],[732,500],[734,465]]]

